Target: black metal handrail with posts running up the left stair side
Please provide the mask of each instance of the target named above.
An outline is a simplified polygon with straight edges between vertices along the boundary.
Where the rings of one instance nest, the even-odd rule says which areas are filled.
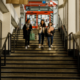
[[[16,31],[15,36],[13,34],[11,34],[11,33],[8,33],[7,37],[5,37],[5,42],[4,42],[3,47],[2,47],[2,49],[0,51],[0,80],[1,80],[1,66],[5,66],[6,65],[6,52],[5,52],[6,51],[6,43],[7,43],[7,40],[8,40],[8,51],[10,50],[9,51],[9,53],[10,53],[11,52],[11,37],[12,36],[14,37],[14,52],[15,52],[15,38],[17,37],[17,40],[18,40],[18,31],[19,30],[17,29],[15,31]],[[1,63],[1,54],[3,54],[3,53],[4,53],[4,63],[2,64]]]

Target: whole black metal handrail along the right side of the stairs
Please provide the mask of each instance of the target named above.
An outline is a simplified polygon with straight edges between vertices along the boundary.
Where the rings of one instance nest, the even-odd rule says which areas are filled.
[[[73,34],[73,32],[71,32],[69,35],[68,35],[68,33],[66,33],[65,34],[65,29],[63,28],[63,27],[61,27],[61,35],[62,35],[62,39],[64,40],[64,38],[67,40],[67,42],[68,42],[68,40],[69,40],[69,50],[70,50],[70,48],[71,48],[71,40],[73,40],[73,54],[74,54],[74,58],[75,58],[75,46],[77,47],[77,49],[78,49],[78,71],[80,72],[80,70],[79,70],[79,67],[80,67],[80,59],[79,59],[79,53],[80,53],[80,48],[79,48],[79,45],[78,45],[78,43],[77,43],[77,41],[76,41],[76,39],[75,39],[75,37],[74,37],[74,34]],[[65,35],[64,35],[65,34]],[[64,44],[65,44],[65,40],[64,40]],[[75,45],[76,44],[76,45]],[[67,46],[68,47],[68,46]]]

